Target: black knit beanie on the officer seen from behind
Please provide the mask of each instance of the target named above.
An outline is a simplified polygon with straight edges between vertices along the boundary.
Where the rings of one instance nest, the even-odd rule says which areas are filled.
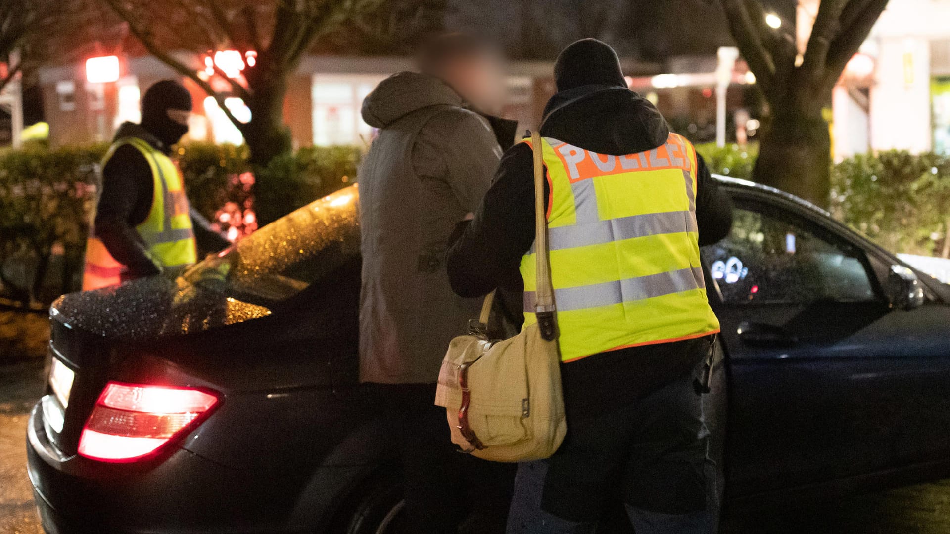
[[[561,50],[554,64],[554,82],[559,91],[594,84],[627,86],[617,52],[597,39],[581,39]]]

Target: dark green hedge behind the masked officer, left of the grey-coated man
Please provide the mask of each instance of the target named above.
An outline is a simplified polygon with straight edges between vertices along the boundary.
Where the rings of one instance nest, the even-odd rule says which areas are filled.
[[[0,152],[0,296],[41,303],[79,287],[106,149]],[[208,143],[183,145],[176,154],[192,204],[238,235],[257,227],[255,211],[262,221],[277,219],[352,182],[360,151],[303,148],[258,169],[257,184],[247,156],[246,147]]]

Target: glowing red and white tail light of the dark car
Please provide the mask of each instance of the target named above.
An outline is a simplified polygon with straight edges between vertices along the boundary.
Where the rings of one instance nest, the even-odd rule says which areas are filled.
[[[218,396],[193,388],[109,382],[85,422],[79,454],[104,462],[151,456],[218,405]]]

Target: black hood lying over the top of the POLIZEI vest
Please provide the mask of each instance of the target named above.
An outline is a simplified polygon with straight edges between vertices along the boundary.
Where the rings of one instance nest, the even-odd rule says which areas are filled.
[[[551,97],[544,107],[541,133],[598,154],[623,156],[666,143],[670,126],[656,106],[636,92],[590,85]]]

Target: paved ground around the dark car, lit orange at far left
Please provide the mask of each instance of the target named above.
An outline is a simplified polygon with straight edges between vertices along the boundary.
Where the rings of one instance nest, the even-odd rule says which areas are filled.
[[[43,389],[42,364],[0,366],[0,534],[42,534],[26,472],[25,431]],[[948,436],[950,439],[950,436]],[[728,534],[947,534],[950,480],[784,513],[733,517]]]

